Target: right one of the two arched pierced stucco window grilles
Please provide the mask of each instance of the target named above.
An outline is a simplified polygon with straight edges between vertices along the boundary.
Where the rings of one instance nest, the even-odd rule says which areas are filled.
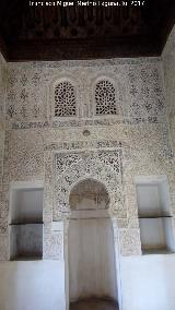
[[[107,80],[100,81],[95,88],[96,115],[116,115],[115,87]]]

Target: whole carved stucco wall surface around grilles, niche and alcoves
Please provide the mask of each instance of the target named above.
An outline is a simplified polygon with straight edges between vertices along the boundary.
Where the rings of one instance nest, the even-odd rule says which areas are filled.
[[[62,260],[66,235],[51,230],[52,219],[68,222],[72,187],[93,178],[110,195],[120,253],[141,254],[135,176],[167,175],[175,215],[175,165],[161,59],[9,63],[5,74],[0,233],[7,234],[10,182],[44,180],[44,259]],[[95,115],[101,80],[114,84],[117,114]],[[60,81],[73,83],[77,116],[54,115],[54,90]]]

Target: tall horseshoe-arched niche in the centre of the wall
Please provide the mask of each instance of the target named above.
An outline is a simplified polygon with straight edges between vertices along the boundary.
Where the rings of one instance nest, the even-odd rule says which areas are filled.
[[[93,179],[80,181],[70,193],[70,309],[118,309],[114,234],[105,186]]]

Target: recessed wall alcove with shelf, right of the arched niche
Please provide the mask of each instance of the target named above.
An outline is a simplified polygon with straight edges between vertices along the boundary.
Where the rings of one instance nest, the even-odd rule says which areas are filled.
[[[136,192],[142,252],[174,252],[175,236],[166,176],[137,177]]]

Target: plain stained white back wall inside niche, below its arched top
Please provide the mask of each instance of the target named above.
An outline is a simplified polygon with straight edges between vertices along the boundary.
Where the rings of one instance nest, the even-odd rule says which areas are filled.
[[[71,301],[90,297],[117,299],[109,218],[71,219],[68,254]]]

